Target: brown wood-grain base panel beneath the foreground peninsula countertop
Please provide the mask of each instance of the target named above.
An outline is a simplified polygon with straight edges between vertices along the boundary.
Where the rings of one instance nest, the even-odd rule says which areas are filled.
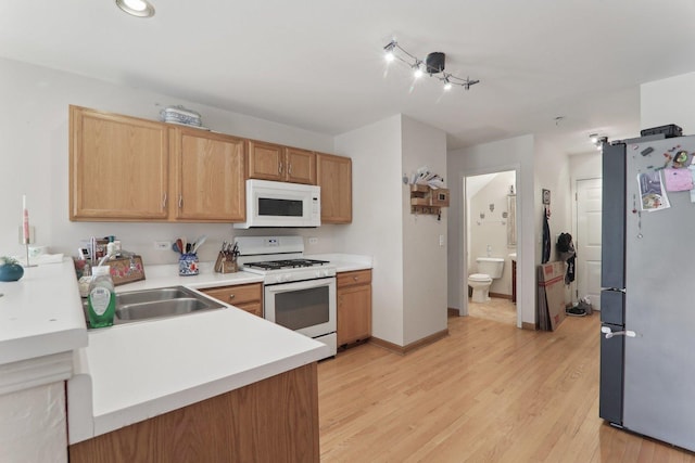
[[[68,447],[71,463],[318,463],[316,362]]]

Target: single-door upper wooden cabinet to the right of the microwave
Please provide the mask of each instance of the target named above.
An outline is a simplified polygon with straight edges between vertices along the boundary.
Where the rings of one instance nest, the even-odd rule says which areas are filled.
[[[316,177],[321,188],[321,223],[352,222],[352,159],[316,153]]]

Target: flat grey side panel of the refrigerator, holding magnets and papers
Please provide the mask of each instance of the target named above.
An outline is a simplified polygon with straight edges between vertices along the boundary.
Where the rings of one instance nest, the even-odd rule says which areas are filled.
[[[695,138],[627,145],[626,329],[636,337],[624,338],[622,423],[695,451],[695,204],[687,191],[669,192],[670,208],[632,213],[637,175],[678,151],[694,153]]]

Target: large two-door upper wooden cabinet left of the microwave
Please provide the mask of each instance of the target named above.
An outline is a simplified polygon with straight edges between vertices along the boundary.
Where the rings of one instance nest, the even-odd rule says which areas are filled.
[[[244,140],[71,106],[71,220],[245,219]]]

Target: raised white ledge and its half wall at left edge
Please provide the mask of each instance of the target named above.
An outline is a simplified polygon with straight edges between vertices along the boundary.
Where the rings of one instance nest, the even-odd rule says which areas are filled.
[[[64,382],[87,346],[72,259],[0,282],[0,461],[65,462]]]

